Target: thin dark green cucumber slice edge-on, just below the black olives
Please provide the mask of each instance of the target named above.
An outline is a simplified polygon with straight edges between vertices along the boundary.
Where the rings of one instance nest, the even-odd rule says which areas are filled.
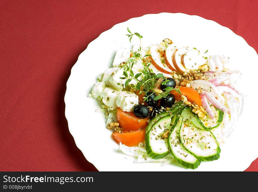
[[[153,118],[150,123],[147,125],[145,129],[145,134],[149,132],[149,130],[152,128],[152,125],[154,125],[158,120],[161,118],[170,115],[171,117],[174,116],[175,114],[179,113],[183,108],[185,107],[184,103],[182,101],[176,102],[168,111],[163,111],[157,117]]]

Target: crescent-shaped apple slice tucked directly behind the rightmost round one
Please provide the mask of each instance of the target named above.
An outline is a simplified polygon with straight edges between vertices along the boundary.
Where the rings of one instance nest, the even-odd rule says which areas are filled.
[[[178,71],[179,73],[183,74],[184,72],[186,71],[189,71],[188,69],[186,69],[182,62],[181,62],[181,57],[182,55],[184,55],[187,51],[190,51],[192,50],[191,48],[189,47],[183,47],[177,51],[174,52],[174,55],[173,55],[173,58],[172,58],[172,61],[173,61],[173,64],[174,64],[174,67],[176,68],[176,71]]]

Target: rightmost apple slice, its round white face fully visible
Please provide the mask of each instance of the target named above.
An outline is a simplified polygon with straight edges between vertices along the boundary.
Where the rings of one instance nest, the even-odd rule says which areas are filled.
[[[182,65],[189,70],[198,69],[199,66],[207,64],[207,59],[197,50],[187,51],[181,57]]]

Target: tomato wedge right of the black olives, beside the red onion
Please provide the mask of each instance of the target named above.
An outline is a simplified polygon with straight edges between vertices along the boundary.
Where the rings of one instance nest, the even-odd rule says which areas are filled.
[[[190,87],[181,86],[179,88],[179,90],[182,95],[186,96],[187,101],[189,101],[191,103],[193,103],[195,101],[195,103],[198,106],[202,106],[201,95],[195,89],[192,89]],[[177,91],[172,90],[172,91],[170,91],[170,93],[175,96],[177,101],[181,100],[181,96]]]

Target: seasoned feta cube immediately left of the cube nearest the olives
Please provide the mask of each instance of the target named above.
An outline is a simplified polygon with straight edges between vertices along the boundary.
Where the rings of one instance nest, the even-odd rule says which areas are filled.
[[[117,108],[116,100],[118,96],[118,91],[115,91],[109,87],[106,87],[104,91],[101,93],[102,102],[110,108],[110,110],[113,110]]]

